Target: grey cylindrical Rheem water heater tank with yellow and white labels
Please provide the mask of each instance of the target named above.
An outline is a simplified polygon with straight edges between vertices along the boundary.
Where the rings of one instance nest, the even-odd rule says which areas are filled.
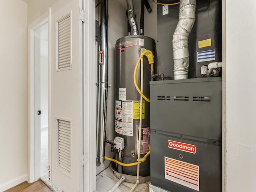
[[[124,138],[124,149],[118,152],[115,149],[115,158],[124,163],[137,162],[138,128],[140,118],[140,94],[137,92],[133,74],[140,49],[146,48],[155,53],[155,41],[147,36],[124,36],[116,41],[116,102],[115,102],[115,136]],[[143,93],[149,98],[150,64],[144,56],[144,80]],[[136,74],[137,84],[140,87],[140,66]],[[149,150],[150,144],[150,104],[142,102],[142,136],[141,156],[142,158]],[[136,176],[137,166],[118,168],[112,164],[112,168],[119,173]],[[150,176],[150,158],[140,164],[140,176]],[[134,181],[132,181],[134,182]]]

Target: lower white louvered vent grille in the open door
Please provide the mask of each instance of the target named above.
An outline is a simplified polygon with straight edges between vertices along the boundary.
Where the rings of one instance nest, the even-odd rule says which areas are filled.
[[[57,169],[67,176],[72,176],[72,139],[71,120],[57,120]]]

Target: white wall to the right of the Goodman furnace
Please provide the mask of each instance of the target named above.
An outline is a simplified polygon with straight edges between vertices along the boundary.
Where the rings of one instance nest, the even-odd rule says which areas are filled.
[[[226,0],[226,188],[256,191],[256,1]]]

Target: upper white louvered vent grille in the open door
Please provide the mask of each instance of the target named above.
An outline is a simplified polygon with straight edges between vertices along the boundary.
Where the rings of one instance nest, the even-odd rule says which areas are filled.
[[[71,69],[71,17],[64,16],[56,22],[56,71]]]

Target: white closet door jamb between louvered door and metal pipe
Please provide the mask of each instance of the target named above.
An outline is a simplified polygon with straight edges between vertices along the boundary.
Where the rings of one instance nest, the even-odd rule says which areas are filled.
[[[96,191],[96,51],[95,0],[83,0],[83,150],[85,154],[84,192]]]

